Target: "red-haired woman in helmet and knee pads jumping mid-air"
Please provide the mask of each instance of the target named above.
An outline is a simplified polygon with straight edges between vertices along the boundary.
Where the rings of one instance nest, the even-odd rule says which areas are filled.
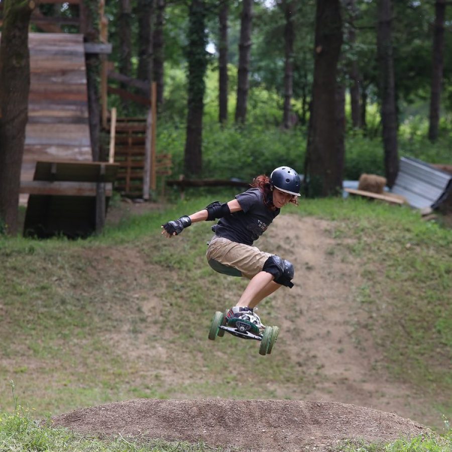
[[[281,286],[292,287],[293,265],[279,256],[253,247],[254,241],[267,230],[280,209],[288,203],[297,205],[300,177],[288,166],[280,166],[270,177],[256,177],[249,190],[221,204],[212,202],[205,209],[162,225],[162,234],[177,236],[198,221],[218,219],[212,227],[215,235],[207,248],[207,261],[217,272],[250,279],[237,304],[226,317],[249,322],[258,332],[264,327],[253,309]]]

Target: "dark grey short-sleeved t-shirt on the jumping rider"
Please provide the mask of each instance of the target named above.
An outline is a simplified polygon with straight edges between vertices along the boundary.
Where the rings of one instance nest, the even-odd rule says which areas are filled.
[[[243,210],[224,216],[214,226],[215,234],[233,242],[253,245],[267,230],[280,209],[271,210],[263,200],[259,188],[250,188],[236,195]]]

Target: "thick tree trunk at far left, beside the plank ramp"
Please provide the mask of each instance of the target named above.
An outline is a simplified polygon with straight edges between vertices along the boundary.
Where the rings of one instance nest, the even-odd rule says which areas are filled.
[[[0,232],[18,232],[19,190],[30,92],[28,27],[33,0],[5,0],[0,43]]]

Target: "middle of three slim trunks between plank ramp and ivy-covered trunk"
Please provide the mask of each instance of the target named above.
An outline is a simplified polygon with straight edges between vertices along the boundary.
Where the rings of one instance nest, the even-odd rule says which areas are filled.
[[[138,69],[137,78],[148,83],[147,98],[151,95],[151,83],[154,72],[154,0],[138,0]]]

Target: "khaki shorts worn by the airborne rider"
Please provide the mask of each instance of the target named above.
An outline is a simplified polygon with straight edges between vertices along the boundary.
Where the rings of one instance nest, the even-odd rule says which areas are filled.
[[[213,270],[248,279],[262,271],[270,256],[272,254],[264,253],[259,248],[217,236],[213,236],[206,252],[207,261]]]

